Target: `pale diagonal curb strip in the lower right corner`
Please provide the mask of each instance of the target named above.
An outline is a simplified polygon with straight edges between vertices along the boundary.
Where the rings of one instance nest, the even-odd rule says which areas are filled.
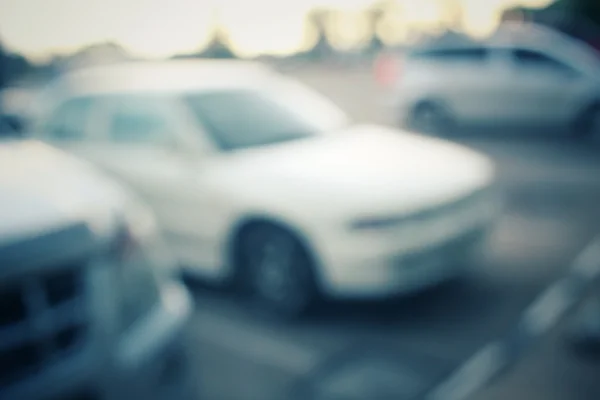
[[[600,279],[600,237],[573,261],[569,273],[542,292],[504,339],[484,346],[430,391],[425,400],[463,400],[514,365],[532,343],[554,328]]]

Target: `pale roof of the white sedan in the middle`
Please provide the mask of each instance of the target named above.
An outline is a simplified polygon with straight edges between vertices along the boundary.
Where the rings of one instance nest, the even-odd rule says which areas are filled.
[[[255,86],[273,74],[251,61],[132,61],[69,71],[51,87],[71,96],[184,92]]]

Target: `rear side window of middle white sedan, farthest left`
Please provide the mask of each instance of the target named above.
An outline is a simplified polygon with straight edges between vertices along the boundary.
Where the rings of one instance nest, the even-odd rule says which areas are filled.
[[[46,120],[43,133],[50,140],[81,140],[87,135],[91,98],[73,98],[59,105]]]

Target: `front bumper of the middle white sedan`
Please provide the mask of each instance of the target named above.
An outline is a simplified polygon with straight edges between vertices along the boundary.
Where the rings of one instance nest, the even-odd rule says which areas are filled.
[[[487,237],[478,227],[417,251],[398,254],[365,246],[355,261],[344,262],[324,275],[324,294],[336,298],[383,298],[417,292],[467,272]]]

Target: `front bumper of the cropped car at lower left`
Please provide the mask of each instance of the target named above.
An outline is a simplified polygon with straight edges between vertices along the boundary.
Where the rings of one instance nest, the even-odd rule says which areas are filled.
[[[179,283],[161,289],[161,301],[116,340],[102,324],[93,343],[52,368],[0,390],[2,400],[186,399],[184,336],[192,300]]]

